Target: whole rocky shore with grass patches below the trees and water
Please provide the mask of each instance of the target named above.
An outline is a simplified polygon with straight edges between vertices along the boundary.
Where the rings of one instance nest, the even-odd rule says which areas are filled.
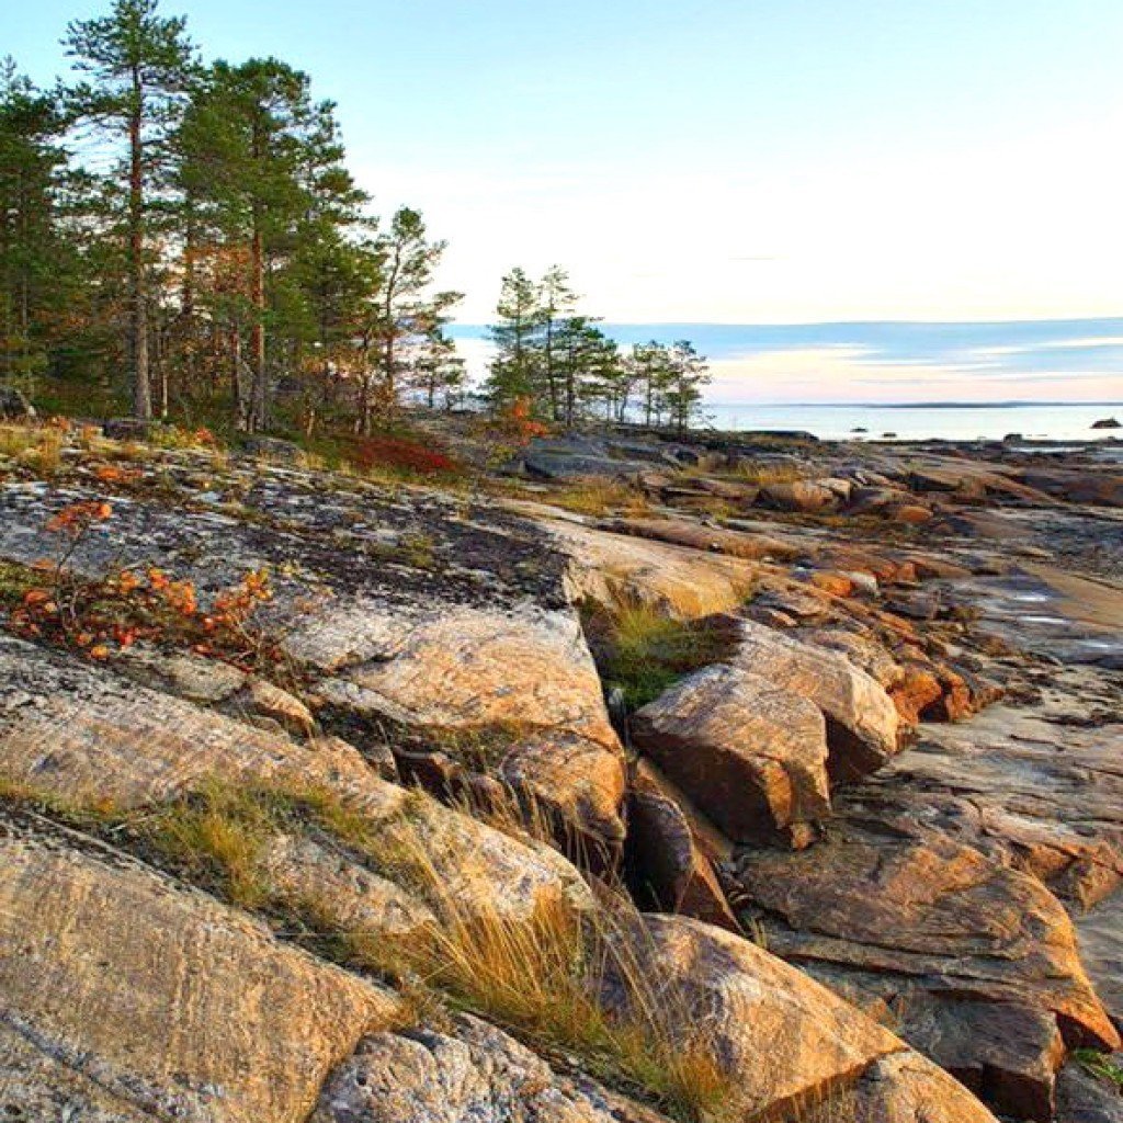
[[[4,431],[4,1117],[1123,1120],[1114,442]]]

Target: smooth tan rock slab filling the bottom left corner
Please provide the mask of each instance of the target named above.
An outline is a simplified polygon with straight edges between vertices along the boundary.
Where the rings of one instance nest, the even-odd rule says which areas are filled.
[[[4,821],[0,866],[9,1112],[299,1123],[358,1040],[403,1017],[390,992],[81,838]]]

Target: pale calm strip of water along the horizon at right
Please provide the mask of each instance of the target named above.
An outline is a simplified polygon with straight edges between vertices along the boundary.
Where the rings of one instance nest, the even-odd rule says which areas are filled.
[[[715,429],[802,429],[824,440],[1096,440],[1123,429],[1093,429],[1101,418],[1123,421],[1123,403],[1079,405],[752,405],[706,403]],[[866,433],[856,432],[866,429]]]

